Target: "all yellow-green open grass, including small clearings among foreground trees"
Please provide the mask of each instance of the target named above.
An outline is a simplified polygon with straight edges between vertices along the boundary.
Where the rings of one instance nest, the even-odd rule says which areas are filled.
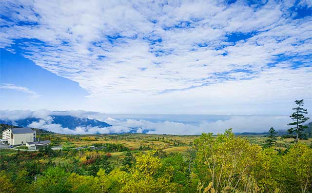
[[[188,150],[192,149],[193,142],[199,135],[147,135],[147,134],[121,134],[121,135],[60,135],[60,134],[42,134],[39,135],[41,140],[51,140],[51,146],[62,146],[64,154],[66,150],[70,151],[78,147],[90,147],[98,146],[105,147],[107,144],[121,144],[128,148],[131,153],[136,156],[141,151],[156,149],[161,150],[163,154],[180,153],[183,157],[187,158]],[[241,135],[243,138],[250,140],[252,144],[257,144],[263,146],[266,135]],[[294,139],[292,138],[281,138],[277,137],[277,143],[275,144],[275,149],[280,149],[285,151],[289,148]],[[308,140],[300,140],[300,143],[312,145],[312,138]],[[19,146],[19,149],[25,149],[26,146]],[[56,150],[59,151],[59,150]],[[92,152],[92,150],[87,149],[87,152]],[[107,151],[105,151],[107,152]],[[1,150],[0,156],[16,154],[16,150]],[[126,151],[109,151],[111,156],[109,157],[109,162],[115,166],[120,166],[122,160],[125,157]],[[86,154],[85,151],[77,157],[83,157]],[[39,163],[47,163],[51,161],[55,164],[70,163],[71,157],[68,156],[57,156],[49,159],[41,157],[38,161]]]

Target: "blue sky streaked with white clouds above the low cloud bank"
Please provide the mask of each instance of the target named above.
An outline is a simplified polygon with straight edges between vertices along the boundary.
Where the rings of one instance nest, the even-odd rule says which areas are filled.
[[[312,1],[2,0],[0,110],[312,111]]]

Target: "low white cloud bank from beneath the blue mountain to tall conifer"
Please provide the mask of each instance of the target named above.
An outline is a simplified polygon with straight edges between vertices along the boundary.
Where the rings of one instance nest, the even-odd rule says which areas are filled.
[[[137,133],[150,130],[148,134],[172,134],[172,135],[199,135],[201,133],[223,133],[224,130],[233,128],[236,133],[243,132],[266,132],[274,127],[278,130],[286,130],[287,123],[291,120],[289,116],[232,116],[229,119],[211,122],[200,122],[199,125],[185,124],[173,121],[151,122],[147,120],[127,119],[125,121],[114,121],[116,125],[111,127],[76,127],[74,130],[63,128],[59,124],[53,124],[50,120],[41,119],[33,122],[29,127],[42,128],[51,132],[61,134],[109,134],[128,133],[131,128],[137,128]],[[112,122],[108,122],[113,124]]]

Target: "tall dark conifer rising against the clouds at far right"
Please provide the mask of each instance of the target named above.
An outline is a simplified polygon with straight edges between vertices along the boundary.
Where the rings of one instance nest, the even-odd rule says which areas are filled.
[[[308,114],[307,109],[303,109],[302,106],[304,104],[303,99],[301,100],[295,100],[294,101],[296,105],[298,105],[296,108],[293,108],[295,112],[292,113],[290,116],[294,122],[289,123],[288,125],[294,126],[288,130],[289,134],[296,134],[296,140],[295,142],[298,143],[299,136],[302,135],[302,132],[308,128],[308,126],[303,125],[304,122],[306,122],[309,117],[304,116],[305,114]]]

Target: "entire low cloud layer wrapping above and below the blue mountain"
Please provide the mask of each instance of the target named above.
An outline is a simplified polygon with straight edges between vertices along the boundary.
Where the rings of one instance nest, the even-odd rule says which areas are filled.
[[[105,121],[112,124],[111,127],[76,127],[71,130],[63,128],[60,124],[53,122],[53,115],[70,115],[79,118],[90,118]],[[109,134],[109,133],[129,133],[134,130],[142,133],[144,130],[149,131],[148,134],[174,134],[174,135],[198,135],[201,133],[222,133],[225,129],[233,128],[236,133],[243,132],[266,132],[269,128],[274,127],[276,130],[286,130],[287,124],[291,122],[289,116],[205,116],[198,119],[196,116],[178,116],[176,120],[172,120],[171,115],[157,116],[146,115],[138,116],[118,116],[101,114],[97,112],[87,111],[67,111],[53,112],[48,110],[39,111],[0,111],[0,119],[2,120],[19,120],[29,117],[39,118],[28,127],[45,129],[47,131],[60,134]],[[144,118],[145,117],[145,118]],[[151,117],[154,117],[151,120]],[[179,119],[181,121],[179,121]],[[185,120],[188,120],[185,122]]]

